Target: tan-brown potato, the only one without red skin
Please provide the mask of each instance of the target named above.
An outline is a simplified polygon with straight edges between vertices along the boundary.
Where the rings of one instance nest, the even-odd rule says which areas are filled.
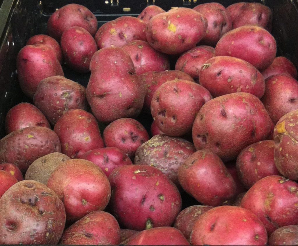
[[[27,169],[25,179],[35,180],[47,185],[48,179],[56,167],[69,159],[67,155],[59,152],[44,155],[32,162]]]

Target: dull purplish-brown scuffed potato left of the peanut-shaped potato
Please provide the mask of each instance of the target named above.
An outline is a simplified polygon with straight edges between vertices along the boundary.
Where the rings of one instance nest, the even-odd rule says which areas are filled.
[[[52,126],[68,110],[73,108],[87,110],[88,108],[86,88],[63,76],[52,76],[41,80],[33,102]]]

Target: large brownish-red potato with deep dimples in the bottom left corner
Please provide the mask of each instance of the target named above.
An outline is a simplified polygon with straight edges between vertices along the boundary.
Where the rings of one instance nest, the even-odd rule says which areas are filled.
[[[0,199],[0,243],[57,245],[65,219],[54,191],[34,180],[20,181]]]

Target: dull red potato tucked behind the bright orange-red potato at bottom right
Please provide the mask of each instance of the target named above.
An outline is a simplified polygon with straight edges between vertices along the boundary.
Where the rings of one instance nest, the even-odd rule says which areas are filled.
[[[212,206],[193,205],[184,208],[176,217],[174,227],[183,233],[185,238],[190,241],[190,233],[195,221],[205,212],[214,208]]]

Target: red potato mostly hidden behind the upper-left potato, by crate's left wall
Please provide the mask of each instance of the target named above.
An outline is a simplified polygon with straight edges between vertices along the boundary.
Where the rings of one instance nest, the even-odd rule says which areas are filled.
[[[34,35],[28,39],[26,45],[45,44],[55,50],[57,60],[62,63],[62,51],[59,43],[52,37],[45,34]]]

